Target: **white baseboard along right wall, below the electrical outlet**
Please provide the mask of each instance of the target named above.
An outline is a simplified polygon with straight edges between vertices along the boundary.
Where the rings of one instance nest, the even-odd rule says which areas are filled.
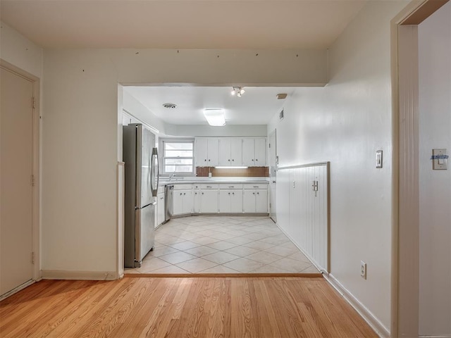
[[[369,311],[369,309],[366,308],[364,304],[362,304],[357,298],[355,298],[354,295],[351,294],[351,292],[343,287],[342,284],[338,282],[335,277],[333,277],[333,275],[331,275],[330,273],[325,273],[323,274],[323,277],[326,278],[329,284],[332,285],[332,287],[342,295],[343,299],[345,299],[345,301],[347,301],[347,303],[349,303],[350,306],[352,306],[352,308],[354,308],[354,310],[359,313],[359,315],[376,332],[376,334],[378,334],[379,337],[390,337],[390,330],[388,330],[387,327],[385,327],[381,323],[381,320],[378,320],[378,318],[376,318],[376,316],[373,315],[373,313],[371,313],[371,311]]]

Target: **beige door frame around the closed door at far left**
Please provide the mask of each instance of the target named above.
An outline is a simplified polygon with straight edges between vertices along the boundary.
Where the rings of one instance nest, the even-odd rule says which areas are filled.
[[[42,116],[40,114],[40,104],[41,104],[41,92],[40,92],[40,80],[39,77],[32,75],[25,70],[8,63],[0,58],[0,68],[4,68],[5,70],[14,73],[20,77],[25,78],[26,80],[32,82],[33,85],[33,96],[34,96],[34,107],[33,107],[33,116],[32,116],[32,175],[34,176],[34,185],[32,186],[32,252],[34,253],[34,263],[32,268],[32,281],[29,283],[25,283],[16,287],[16,289],[11,290],[4,294],[2,298],[6,298],[11,294],[14,294],[21,289],[24,289],[29,284],[37,282],[41,279],[41,204],[40,204],[40,196],[41,196],[41,119]],[[33,104],[30,102],[30,104]]]

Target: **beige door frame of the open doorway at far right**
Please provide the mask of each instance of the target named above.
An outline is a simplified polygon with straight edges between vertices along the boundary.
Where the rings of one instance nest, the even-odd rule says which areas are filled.
[[[390,23],[393,108],[391,337],[418,337],[419,334],[418,25],[447,1],[412,1]]]

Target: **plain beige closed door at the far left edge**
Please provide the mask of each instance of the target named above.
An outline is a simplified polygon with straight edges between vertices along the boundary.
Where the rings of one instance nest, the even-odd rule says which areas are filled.
[[[1,68],[0,295],[32,280],[33,83]]]

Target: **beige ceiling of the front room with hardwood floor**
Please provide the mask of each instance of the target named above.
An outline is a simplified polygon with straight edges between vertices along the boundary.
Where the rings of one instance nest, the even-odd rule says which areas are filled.
[[[51,48],[325,49],[366,0],[1,0]]]

